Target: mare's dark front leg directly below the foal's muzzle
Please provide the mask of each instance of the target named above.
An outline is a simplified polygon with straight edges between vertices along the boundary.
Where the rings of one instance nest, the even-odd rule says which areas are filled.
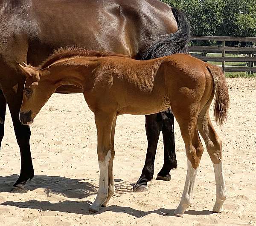
[[[29,126],[21,124],[19,120],[19,112],[23,97],[24,82],[19,82],[17,85],[18,86],[16,90],[13,88],[8,88],[3,91],[12,116],[12,122],[15,130],[17,143],[20,147],[20,177],[13,186],[22,190],[26,190],[26,181],[31,180],[34,177],[34,169],[32,165],[32,158],[29,145],[30,129]]]

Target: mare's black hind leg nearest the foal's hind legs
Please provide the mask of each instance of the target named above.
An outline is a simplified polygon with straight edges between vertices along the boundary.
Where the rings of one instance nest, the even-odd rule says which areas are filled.
[[[157,180],[170,181],[171,169],[177,168],[177,160],[175,153],[175,138],[174,138],[174,116],[171,110],[166,110],[161,113],[163,118],[163,146],[164,146],[164,162],[163,167],[157,174]]]

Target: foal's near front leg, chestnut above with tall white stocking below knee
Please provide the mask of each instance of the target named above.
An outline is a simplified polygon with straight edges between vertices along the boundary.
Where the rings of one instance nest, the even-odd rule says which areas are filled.
[[[97,212],[99,207],[108,198],[109,161],[111,159],[111,129],[115,116],[107,113],[95,113],[95,124],[98,137],[98,161],[99,161],[99,191],[95,201],[90,206],[90,211]],[[112,169],[113,171],[113,169]]]

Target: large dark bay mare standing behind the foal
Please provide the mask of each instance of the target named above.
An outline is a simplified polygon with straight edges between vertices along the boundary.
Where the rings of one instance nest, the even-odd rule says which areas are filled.
[[[39,65],[54,49],[67,45],[150,59],[185,53],[188,41],[184,15],[158,0],[0,0],[0,144],[7,102],[21,155],[15,186],[24,189],[34,176],[29,126],[19,121],[25,79],[17,62]],[[82,90],[62,86],[56,92]],[[161,130],[165,155],[157,178],[170,180],[170,170],[177,167],[173,123],[170,111],[146,116],[148,150],[134,190],[146,187],[153,177]]]

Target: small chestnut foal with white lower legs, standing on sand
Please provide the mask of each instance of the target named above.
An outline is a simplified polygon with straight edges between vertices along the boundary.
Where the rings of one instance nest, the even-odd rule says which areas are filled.
[[[207,146],[216,181],[213,212],[221,212],[226,199],[221,148],[209,118],[215,96],[214,116],[227,119],[228,88],[222,71],[185,54],[138,61],[120,54],[76,48],[60,49],[37,68],[20,65],[26,74],[20,121],[31,124],[61,85],[83,89],[84,99],[95,115],[98,136],[99,191],[90,210],[107,206],[114,193],[113,158],[116,117],[122,114],[154,114],[171,107],[180,126],[188,162],[186,182],[175,216],[183,216],[191,204],[192,190],[203,145]]]

